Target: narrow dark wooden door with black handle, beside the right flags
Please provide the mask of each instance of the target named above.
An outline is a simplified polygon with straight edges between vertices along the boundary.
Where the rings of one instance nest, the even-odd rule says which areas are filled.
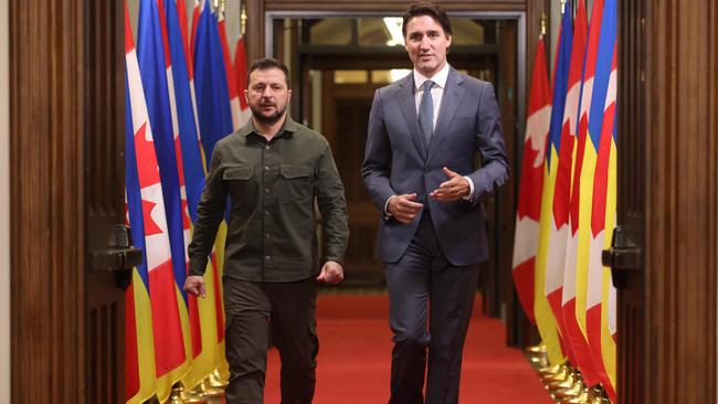
[[[645,369],[645,211],[648,157],[645,131],[645,4],[621,2],[619,46],[619,188],[617,227],[612,252],[604,265],[612,266],[617,288],[617,382],[621,403],[644,403]]]

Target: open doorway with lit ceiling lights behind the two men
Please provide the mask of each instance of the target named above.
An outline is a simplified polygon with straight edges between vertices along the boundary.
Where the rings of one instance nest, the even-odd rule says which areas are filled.
[[[267,13],[265,53],[282,59],[293,74],[292,114],[331,145],[346,188],[351,237],[346,256],[348,285],[381,285],[383,267],[373,259],[378,213],[363,187],[367,121],[377,88],[410,73],[401,18],[365,13]],[[450,64],[492,82],[501,107],[511,166],[524,116],[522,13],[452,14]],[[482,270],[485,310],[500,316],[510,285],[514,184],[484,205],[492,261]],[[507,284],[508,281],[508,284]]]

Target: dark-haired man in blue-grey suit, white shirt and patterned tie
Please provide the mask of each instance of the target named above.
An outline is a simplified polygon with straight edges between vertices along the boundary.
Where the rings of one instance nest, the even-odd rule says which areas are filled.
[[[377,257],[394,334],[389,402],[424,403],[429,352],[425,403],[450,404],[458,402],[478,264],[488,258],[481,202],[506,182],[508,162],[493,86],[446,63],[446,13],[415,3],[402,30],[414,68],[374,94],[361,167],[382,216]]]

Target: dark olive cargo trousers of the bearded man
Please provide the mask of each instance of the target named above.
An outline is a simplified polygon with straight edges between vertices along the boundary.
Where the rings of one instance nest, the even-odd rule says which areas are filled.
[[[224,279],[228,404],[264,402],[270,329],[282,360],[282,404],[312,403],[319,350],[316,301],[314,278],[294,283]]]

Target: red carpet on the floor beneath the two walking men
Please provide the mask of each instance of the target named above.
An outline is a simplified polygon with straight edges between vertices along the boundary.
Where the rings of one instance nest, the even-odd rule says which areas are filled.
[[[552,403],[521,352],[506,348],[500,321],[479,312],[475,308],[464,349],[461,403]],[[387,403],[392,347],[388,313],[387,296],[320,295],[314,403]],[[270,352],[265,403],[279,403],[276,350]]]

